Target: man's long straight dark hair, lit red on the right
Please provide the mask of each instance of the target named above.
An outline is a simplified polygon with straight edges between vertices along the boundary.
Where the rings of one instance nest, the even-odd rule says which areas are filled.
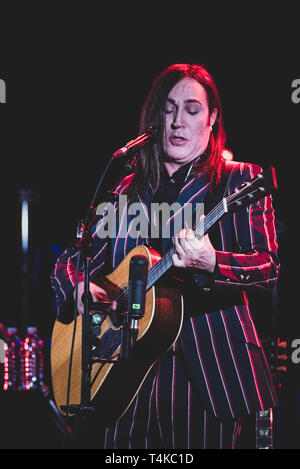
[[[137,155],[135,172],[129,187],[129,193],[142,193],[151,186],[155,193],[159,187],[163,170],[164,150],[162,129],[164,128],[164,105],[171,89],[185,77],[197,80],[206,90],[209,115],[217,109],[217,118],[210,134],[208,146],[193,166],[192,176],[204,169],[207,172],[210,187],[218,184],[222,169],[222,151],[225,145],[225,131],[219,93],[208,71],[198,64],[173,64],[167,67],[153,82],[149,95],[143,105],[140,116],[140,133],[150,126],[161,129],[157,141],[146,145]]]

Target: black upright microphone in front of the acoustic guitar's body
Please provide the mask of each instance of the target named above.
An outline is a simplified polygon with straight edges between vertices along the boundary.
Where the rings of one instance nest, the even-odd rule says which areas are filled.
[[[138,335],[138,322],[144,316],[148,280],[148,259],[132,256],[129,267],[128,312],[124,317],[120,358],[128,358]]]

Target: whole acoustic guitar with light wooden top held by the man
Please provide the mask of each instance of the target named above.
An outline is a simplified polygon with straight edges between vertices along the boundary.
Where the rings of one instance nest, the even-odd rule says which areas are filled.
[[[234,193],[224,197],[194,228],[196,236],[206,234],[227,212],[234,212],[260,200],[277,188],[275,170],[265,169],[243,183]],[[108,296],[118,302],[113,316],[107,315],[94,346],[91,368],[91,401],[97,407],[103,425],[113,424],[130,406],[138,389],[155,362],[178,338],[183,321],[183,299],[179,290],[157,285],[172,267],[174,246],[162,257],[145,246],[137,246],[109,275],[94,280]],[[144,316],[139,320],[138,335],[129,358],[119,360],[122,314],[128,308],[128,277],[130,259],[142,255],[148,259],[149,270]],[[74,321],[55,321],[51,340],[51,374],[54,399],[64,414],[69,389],[70,404],[81,401],[82,317],[76,319],[72,369],[69,377],[70,351]],[[69,388],[68,388],[69,382]]]

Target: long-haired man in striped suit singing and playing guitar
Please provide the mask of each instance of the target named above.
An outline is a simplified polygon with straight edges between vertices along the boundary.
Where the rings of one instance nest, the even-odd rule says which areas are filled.
[[[193,209],[204,203],[207,214],[224,193],[231,194],[261,171],[253,164],[224,164],[220,98],[200,65],[175,64],[155,80],[142,109],[140,131],[151,125],[160,129],[160,138],[140,151],[134,173],[116,188],[127,195],[128,205],[139,201],[146,215],[151,204],[162,202],[191,204]],[[104,268],[115,269],[136,244],[164,252],[172,238],[174,272],[181,277],[185,300],[178,339],[151,369],[126,414],[107,429],[106,448],[234,448],[243,415],[277,404],[246,294],[250,286],[270,288],[278,277],[271,197],[226,214],[212,233],[201,237],[191,226],[172,232],[174,218],[176,214],[167,220],[168,238],[150,239],[142,232],[131,237],[128,212],[119,217],[113,238],[100,239],[99,226],[93,231],[94,301],[105,294],[93,282]],[[128,227],[125,236],[123,222]],[[67,250],[53,272],[59,309],[74,294],[75,259]],[[79,312],[82,292],[80,275]]]

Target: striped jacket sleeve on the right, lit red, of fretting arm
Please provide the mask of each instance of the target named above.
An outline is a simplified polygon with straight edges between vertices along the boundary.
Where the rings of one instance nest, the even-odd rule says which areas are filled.
[[[243,181],[261,172],[258,165],[240,164],[232,178],[230,193]],[[233,243],[228,239],[225,217],[231,217]],[[278,244],[272,196],[268,195],[219,222],[223,250],[216,251],[216,269],[208,277],[207,289],[213,285],[271,288],[279,275]],[[234,251],[227,246],[234,245]],[[205,289],[205,286],[204,286]]]

